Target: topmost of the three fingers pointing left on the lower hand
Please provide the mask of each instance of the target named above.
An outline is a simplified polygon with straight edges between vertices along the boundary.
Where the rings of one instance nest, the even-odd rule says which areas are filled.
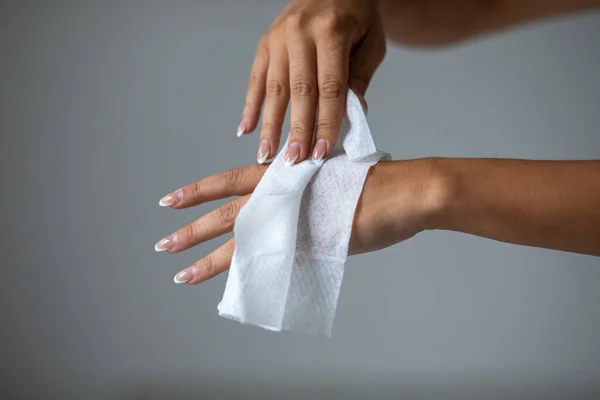
[[[201,179],[163,197],[159,204],[174,209],[252,193],[268,165],[246,165]]]

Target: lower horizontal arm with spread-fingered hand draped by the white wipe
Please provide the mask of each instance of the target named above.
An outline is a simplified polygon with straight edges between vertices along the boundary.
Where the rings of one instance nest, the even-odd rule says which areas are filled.
[[[161,206],[185,209],[241,196],[164,237],[156,251],[178,253],[231,232],[266,169],[236,168],[163,197]],[[349,252],[376,251],[433,229],[600,256],[600,161],[380,162],[365,181]],[[231,239],[179,272],[175,282],[194,285],[227,270],[234,248]]]

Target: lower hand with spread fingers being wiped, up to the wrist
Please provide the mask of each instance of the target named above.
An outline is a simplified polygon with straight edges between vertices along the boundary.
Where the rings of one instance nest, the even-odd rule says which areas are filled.
[[[429,227],[439,209],[439,185],[428,173],[427,160],[380,162],[372,167],[356,208],[349,253],[375,251],[409,239]],[[241,207],[267,169],[250,165],[202,179],[165,196],[160,204],[174,209],[241,196],[200,217],[160,240],[155,249],[178,253],[233,230]],[[184,269],[176,283],[197,284],[227,270],[234,250],[233,239]]]

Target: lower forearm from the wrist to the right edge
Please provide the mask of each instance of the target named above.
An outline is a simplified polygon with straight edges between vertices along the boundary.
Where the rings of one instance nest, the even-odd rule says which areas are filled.
[[[600,161],[431,159],[429,228],[600,256]]]

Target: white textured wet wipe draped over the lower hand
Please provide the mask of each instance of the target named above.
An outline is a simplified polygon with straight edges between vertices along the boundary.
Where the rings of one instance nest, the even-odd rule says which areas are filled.
[[[236,219],[221,316],[331,336],[356,205],[369,168],[388,157],[352,92],[340,143],[323,164],[285,167],[284,146],[269,166]]]

